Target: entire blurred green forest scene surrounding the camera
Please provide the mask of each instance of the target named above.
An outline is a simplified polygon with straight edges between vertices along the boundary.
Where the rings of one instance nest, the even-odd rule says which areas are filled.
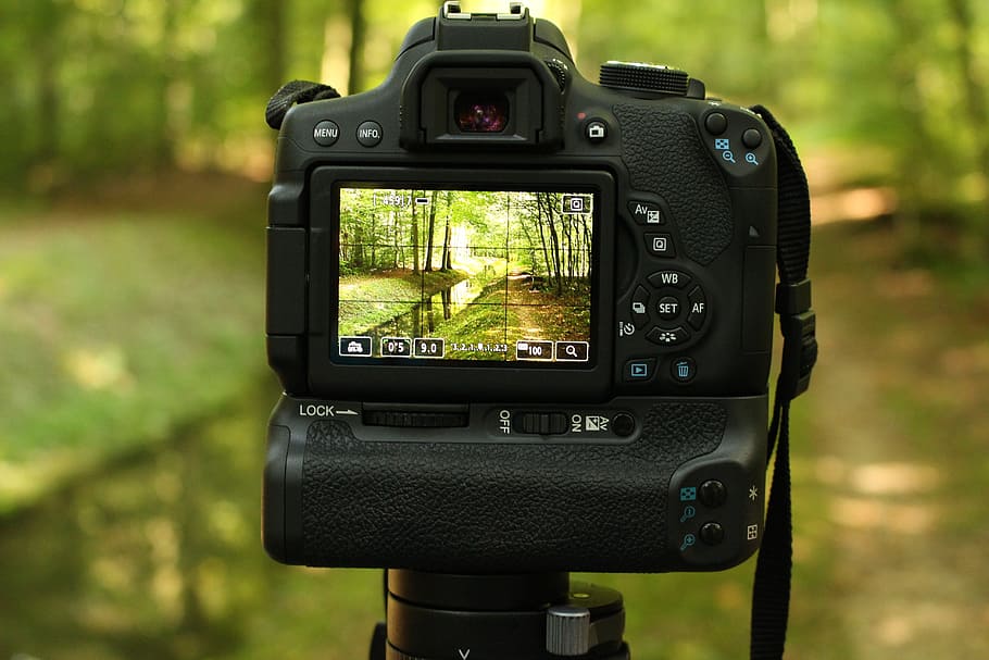
[[[258,539],[263,110],[374,87],[437,4],[0,3],[0,658],[363,656],[379,575]],[[527,4],[591,79],[653,61],[767,105],[808,167],[792,657],[989,657],[989,4]],[[635,658],[714,660],[751,569],[594,580]]]

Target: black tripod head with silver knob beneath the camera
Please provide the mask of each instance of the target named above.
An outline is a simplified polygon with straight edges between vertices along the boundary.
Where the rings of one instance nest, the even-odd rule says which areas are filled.
[[[630,660],[622,594],[566,572],[390,570],[371,660]]]

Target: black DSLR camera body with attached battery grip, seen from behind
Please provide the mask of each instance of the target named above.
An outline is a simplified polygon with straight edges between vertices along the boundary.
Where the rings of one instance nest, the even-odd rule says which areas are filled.
[[[448,3],[285,117],[264,545],[446,573],[709,571],[759,546],[776,154],[683,72],[583,78]]]

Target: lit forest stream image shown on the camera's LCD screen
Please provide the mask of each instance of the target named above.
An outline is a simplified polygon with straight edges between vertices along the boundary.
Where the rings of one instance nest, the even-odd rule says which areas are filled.
[[[334,352],[591,358],[590,192],[340,188]]]

